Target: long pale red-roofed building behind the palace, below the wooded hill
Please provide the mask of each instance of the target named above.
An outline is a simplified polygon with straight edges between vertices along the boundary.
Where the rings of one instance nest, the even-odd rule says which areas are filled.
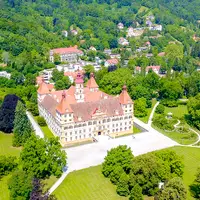
[[[50,50],[49,60],[54,62],[55,54],[60,56],[61,62],[77,62],[78,58],[83,55],[83,52],[77,46],[67,48],[57,48]]]

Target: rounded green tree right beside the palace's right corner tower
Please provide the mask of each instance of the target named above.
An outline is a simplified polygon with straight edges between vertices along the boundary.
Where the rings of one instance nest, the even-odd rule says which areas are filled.
[[[145,98],[139,98],[134,102],[134,115],[136,117],[145,117],[147,115],[147,104]]]

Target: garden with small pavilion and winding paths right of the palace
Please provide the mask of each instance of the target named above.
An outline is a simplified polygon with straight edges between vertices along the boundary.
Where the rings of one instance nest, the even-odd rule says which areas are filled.
[[[198,141],[198,134],[186,121],[187,106],[166,107],[158,105],[153,117],[153,128],[182,145],[192,145]]]

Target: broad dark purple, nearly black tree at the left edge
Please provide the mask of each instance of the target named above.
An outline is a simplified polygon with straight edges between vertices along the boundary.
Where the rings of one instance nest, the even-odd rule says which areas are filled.
[[[18,100],[16,95],[6,95],[0,108],[0,130],[5,133],[11,133],[13,130]]]

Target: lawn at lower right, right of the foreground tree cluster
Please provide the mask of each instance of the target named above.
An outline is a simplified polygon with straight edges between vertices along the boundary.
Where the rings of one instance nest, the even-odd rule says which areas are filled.
[[[170,148],[180,156],[183,157],[184,162],[184,174],[183,174],[183,181],[184,184],[189,189],[189,185],[195,179],[195,174],[197,172],[197,168],[200,167],[200,148],[190,148],[190,147],[173,147]],[[188,198],[187,200],[193,199],[190,196],[190,192],[188,191]]]

